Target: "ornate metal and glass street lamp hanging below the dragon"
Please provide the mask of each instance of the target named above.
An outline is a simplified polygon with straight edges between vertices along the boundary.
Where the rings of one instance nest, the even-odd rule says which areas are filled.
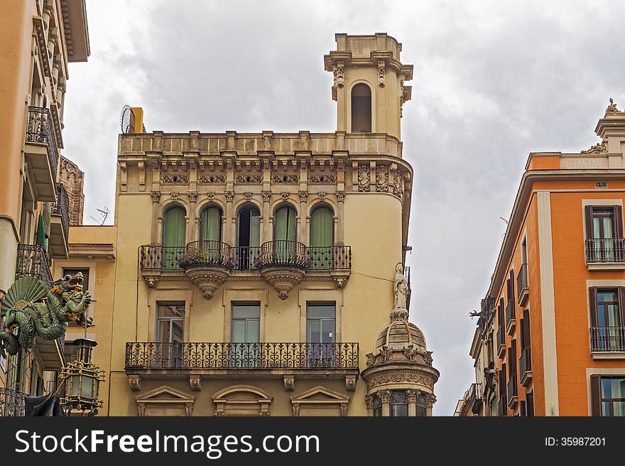
[[[65,408],[67,416],[70,416],[72,409],[95,416],[97,408],[102,408],[103,404],[103,401],[98,400],[99,384],[105,380],[104,370],[91,362],[97,342],[80,338],[74,340],[73,344],[78,345],[78,357],[61,369],[60,379],[65,381],[61,406]]]

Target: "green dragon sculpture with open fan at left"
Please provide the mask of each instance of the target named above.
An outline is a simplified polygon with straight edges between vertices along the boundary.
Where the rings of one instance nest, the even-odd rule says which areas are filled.
[[[29,350],[35,346],[37,336],[56,340],[65,335],[70,322],[85,324],[91,295],[82,291],[82,281],[80,272],[55,281],[52,288],[34,276],[18,278],[6,293],[0,310],[4,317],[0,353]]]

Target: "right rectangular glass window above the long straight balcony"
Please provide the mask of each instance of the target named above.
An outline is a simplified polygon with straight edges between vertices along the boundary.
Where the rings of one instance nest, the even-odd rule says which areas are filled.
[[[335,359],[336,305],[308,303],[306,305],[307,358],[311,365],[332,367]]]

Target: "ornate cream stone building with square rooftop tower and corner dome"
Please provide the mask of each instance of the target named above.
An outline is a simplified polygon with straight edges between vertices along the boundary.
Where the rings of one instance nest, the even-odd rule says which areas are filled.
[[[92,328],[102,413],[431,414],[438,373],[401,268],[413,67],[386,33],[336,39],[332,133],[119,136],[114,244],[85,265],[113,302]],[[72,229],[73,247],[98,228]]]

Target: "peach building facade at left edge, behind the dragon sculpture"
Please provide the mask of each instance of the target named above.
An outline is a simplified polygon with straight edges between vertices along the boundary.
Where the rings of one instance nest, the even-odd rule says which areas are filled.
[[[67,193],[58,183],[68,63],[86,61],[84,0],[6,0],[0,5],[0,298],[20,276],[50,283],[67,257]],[[26,394],[54,386],[59,340],[0,355],[2,415],[23,412]]]

